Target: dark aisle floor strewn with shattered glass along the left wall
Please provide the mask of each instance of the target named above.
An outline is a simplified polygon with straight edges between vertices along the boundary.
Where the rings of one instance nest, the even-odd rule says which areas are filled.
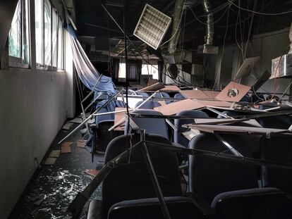
[[[71,129],[74,127],[75,125]],[[66,134],[61,131],[49,151],[59,149],[56,142]],[[103,156],[95,155],[92,163],[87,149],[77,146],[78,139],[82,139],[80,132],[68,139],[74,142],[70,154],[61,154],[54,165],[42,165],[35,172],[9,218],[71,218],[66,211],[69,204],[93,179],[85,171],[101,169],[103,162]],[[91,199],[100,200],[101,195],[99,186]],[[87,208],[88,203],[80,218],[86,218]]]

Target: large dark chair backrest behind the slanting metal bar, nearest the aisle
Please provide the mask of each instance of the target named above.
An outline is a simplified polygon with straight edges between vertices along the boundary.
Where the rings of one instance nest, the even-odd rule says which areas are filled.
[[[158,135],[146,134],[146,140],[171,144],[168,139]],[[139,134],[133,134],[132,137],[126,135],[116,137],[107,146],[104,163],[111,161],[126,151],[127,147],[138,142],[140,142]],[[181,196],[181,177],[176,154],[151,147],[148,147],[148,150],[164,196]],[[102,201],[106,215],[109,208],[120,201],[157,197],[142,150],[132,151],[129,156],[130,163],[119,165],[111,170],[102,183]]]

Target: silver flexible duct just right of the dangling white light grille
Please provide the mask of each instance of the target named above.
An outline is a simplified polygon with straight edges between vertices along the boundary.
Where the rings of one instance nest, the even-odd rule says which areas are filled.
[[[169,54],[173,55],[176,52],[176,45],[178,44],[178,37],[181,33],[181,13],[183,13],[184,0],[176,0],[174,6],[174,24],[171,32],[171,39],[169,41]]]

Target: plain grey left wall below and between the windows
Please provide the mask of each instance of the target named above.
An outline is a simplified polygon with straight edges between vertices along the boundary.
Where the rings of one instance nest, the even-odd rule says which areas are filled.
[[[73,61],[68,37],[66,71],[37,70],[34,1],[30,4],[30,68],[0,70],[1,219],[8,217],[23,193],[37,168],[35,160],[42,161],[66,118],[75,114]]]

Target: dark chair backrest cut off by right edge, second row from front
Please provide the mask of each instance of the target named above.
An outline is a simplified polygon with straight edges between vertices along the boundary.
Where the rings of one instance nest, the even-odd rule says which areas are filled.
[[[291,135],[272,136],[270,139],[264,136],[260,142],[265,160],[292,163]],[[263,166],[262,173],[264,186],[276,187],[292,195],[292,170]]]

